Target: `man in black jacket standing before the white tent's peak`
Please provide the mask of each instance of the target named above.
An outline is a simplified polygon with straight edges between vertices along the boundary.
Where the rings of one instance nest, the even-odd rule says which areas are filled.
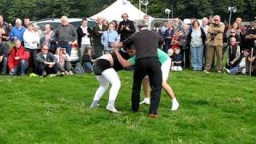
[[[135,33],[134,22],[128,19],[128,14],[122,14],[122,22],[119,23],[118,33],[120,34],[121,41],[129,38],[131,34]]]

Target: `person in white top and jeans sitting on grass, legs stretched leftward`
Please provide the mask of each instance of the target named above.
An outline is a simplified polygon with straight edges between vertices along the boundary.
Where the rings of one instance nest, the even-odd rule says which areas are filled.
[[[226,69],[226,72],[229,74],[246,74],[246,63],[248,63],[247,59],[250,55],[250,50],[245,49],[242,51],[242,59],[239,62],[238,66],[235,66],[231,69]]]

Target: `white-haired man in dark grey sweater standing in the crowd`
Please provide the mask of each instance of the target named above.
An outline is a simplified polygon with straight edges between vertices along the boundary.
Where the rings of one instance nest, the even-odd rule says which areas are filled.
[[[55,39],[58,43],[57,47],[63,47],[66,49],[67,54],[71,54],[72,44],[78,38],[75,27],[70,24],[69,19],[66,16],[62,16],[61,25],[57,27],[55,31]]]

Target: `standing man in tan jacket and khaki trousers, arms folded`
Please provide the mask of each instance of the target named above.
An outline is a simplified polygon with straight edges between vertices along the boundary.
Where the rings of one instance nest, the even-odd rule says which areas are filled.
[[[223,49],[223,32],[225,25],[221,22],[219,15],[214,16],[214,24],[209,26],[208,46],[206,50],[206,67],[204,72],[209,74],[214,53],[217,56],[217,70],[222,73],[222,49]]]

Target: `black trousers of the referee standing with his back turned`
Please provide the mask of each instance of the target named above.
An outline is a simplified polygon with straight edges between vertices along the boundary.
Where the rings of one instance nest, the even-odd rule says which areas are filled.
[[[150,78],[150,114],[158,114],[162,90],[162,71],[158,58],[140,58],[136,61],[132,91],[132,110],[134,112],[138,111],[142,79],[146,74]]]

